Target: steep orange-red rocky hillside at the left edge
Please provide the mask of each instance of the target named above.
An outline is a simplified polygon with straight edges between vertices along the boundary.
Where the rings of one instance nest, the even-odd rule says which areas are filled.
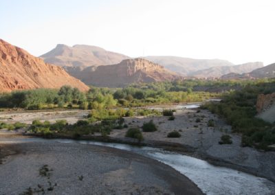
[[[63,68],[47,64],[0,39],[0,92],[60,88],[65,84],[81,91],[89,90],[87,85],[69,76]]]

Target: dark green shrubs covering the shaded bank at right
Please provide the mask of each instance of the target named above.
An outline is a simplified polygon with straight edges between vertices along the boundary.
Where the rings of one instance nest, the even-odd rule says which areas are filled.
[[[248,84],[240,91],[232,91],[223,95],[219,103],[208,103],[202,108],[208,108],[212,113],[225,118],[232,126],[234,133],[242,134],[243,146],[254,146],[268,150],[268,146],[275,144],[275,124],[264,122],[255,117],[256,100],[261,93],[274,93],[275,81]],[[208,122],[212,126],[212,122]]]

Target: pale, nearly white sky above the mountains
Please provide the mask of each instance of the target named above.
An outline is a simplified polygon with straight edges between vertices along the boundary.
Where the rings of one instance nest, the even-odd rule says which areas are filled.
[[[0,38],[34,56],[57,44],[126,56],[275,62],[274,0],[0,0]]]

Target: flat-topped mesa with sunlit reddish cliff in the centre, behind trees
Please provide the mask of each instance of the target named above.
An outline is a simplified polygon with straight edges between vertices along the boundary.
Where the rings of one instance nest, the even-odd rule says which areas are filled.
[[[69,72],[80,76],[86,84],[97,87],[124,87],[137,82],[157,82],[181,79],[181,76],[142,58],[122,60],[116,65],[87,67],[78,69],[69,67]]]

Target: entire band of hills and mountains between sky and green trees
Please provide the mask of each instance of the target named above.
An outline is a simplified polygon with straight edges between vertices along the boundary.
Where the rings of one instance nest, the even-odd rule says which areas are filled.
[[[97,87],[124,87],[135,82],[183,80],[189,77],[275,77],[275,64],[267,67],[263,67],[262,62],[234,65],[226,60],[198,60],[176,56],[130,58],[89,45],[69,47],[59,44],[36,58],[0,39],[0,55],[0,92],[36,88],[57,89],[65,84],[87,91],[89,87],[86,84]]]

